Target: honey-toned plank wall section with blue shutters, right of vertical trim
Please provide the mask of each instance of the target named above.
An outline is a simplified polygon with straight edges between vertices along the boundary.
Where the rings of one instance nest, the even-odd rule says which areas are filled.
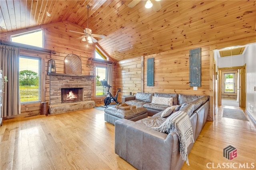
[[[209,47],[202,47],[201,87],[193,90],[189,86],[189,50],[168,51],[145,56],[144,92],[178,93],[190,95],[209,95]],[[147,86],[147,59],[154,57],[154,86]]]

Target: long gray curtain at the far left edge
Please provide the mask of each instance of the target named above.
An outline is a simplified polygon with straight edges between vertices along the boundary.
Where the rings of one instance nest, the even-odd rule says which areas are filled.
[[[20,113],[19,98],[19,48],[0,45],[0,69],[8,82],[4,83],[3,116],[8,117]]]

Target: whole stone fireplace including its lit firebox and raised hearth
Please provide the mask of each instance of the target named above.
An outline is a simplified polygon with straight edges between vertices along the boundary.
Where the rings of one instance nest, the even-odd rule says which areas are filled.
[[[91,101],[93,76],[50,73],[50,114],[95,107]]]

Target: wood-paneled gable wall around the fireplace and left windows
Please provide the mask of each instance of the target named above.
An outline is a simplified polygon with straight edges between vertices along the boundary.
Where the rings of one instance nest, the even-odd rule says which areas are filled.
[[[38,27],[29,28],[26,30],[18,30],[14,32],[5,33],[4,36],[1,35],[1,40],[10,41],[11,35],[16,35],[18,33],[24,33],[28,31],[33,31],[36,29],[43,29],[44,33],[44,48],[55,51],[50,55],[49,52],[37,51],[29,48],[22,48],[20,50],[21,55],[32,56],[32,57],[43,57],[44,64],[42,72],[44,72],[44,89],[43,96],[45,102],[50,100],[50,76],[47,74],[48,60],[50,57],[54,59],[56,63],[56,72],[65,73],[65,62],[64,59],[68,54],[75,54],[80,57],[82,61],[82,75],[89,75],[89,71],[93,68],[90,68],[86,63],[90,57],[94,57],[95,44],[92,43],[81,43],[81,41],[72,38],[70,29],[76,30],[80,27],[69,21],[63,21],[58,23],[52,23],[48,25],[42,25]],[[42,56],[43,55],[43,56]],[[92,61],[91,64],[94,64]],[[94,100],[94,78],[91,78],[92,81],[92,95],[91,99]],[[44,102],[44,101],[43,101]],[[28,110],[25,108],[28,107]],[[30,114],[39,114],[40,113],[40,103],[36,104],[22,104],[21,105],[21,115],[30,115]]]

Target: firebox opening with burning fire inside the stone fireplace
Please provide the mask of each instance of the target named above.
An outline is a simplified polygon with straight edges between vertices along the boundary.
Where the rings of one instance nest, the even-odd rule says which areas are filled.
[[[62,88],[61,103],[72,103],[83,101],[83,88]]]

